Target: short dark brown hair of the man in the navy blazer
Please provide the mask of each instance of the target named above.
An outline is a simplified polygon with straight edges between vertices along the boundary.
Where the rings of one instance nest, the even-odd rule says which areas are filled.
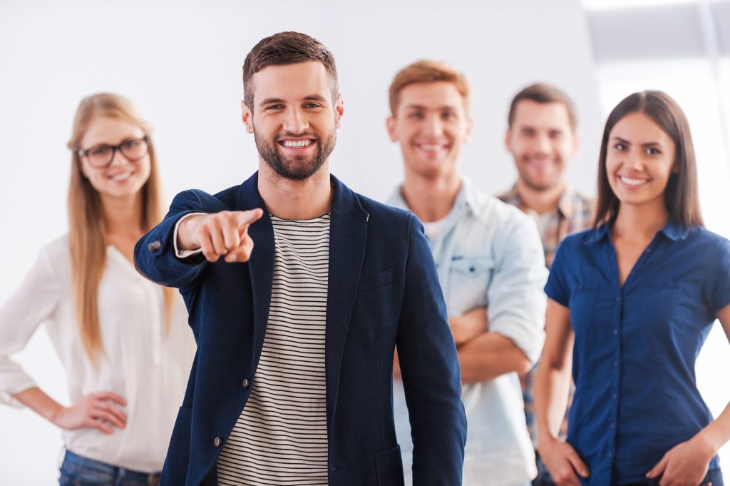
[[[243,101],[253,111],[253,75],[269,66],[284,66],[306,61],[324,64],[331,80],[332,98],[339,94],[334,56],[314,37],[299,32],[279,32],[258,41],[243,62]]]

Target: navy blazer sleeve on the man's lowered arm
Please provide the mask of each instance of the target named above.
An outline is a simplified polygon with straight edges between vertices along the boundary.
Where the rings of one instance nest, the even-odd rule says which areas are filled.
[[[397,347],[413,439],[413,484],[461,485],[461,372],[434,258],[411,216]]]

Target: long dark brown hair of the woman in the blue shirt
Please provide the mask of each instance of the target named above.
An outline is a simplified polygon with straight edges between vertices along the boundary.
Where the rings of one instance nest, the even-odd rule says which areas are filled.
[[[697,164],[689,124],[680,105],[663,91],[634,93],[616,105],[606,121],[598,161],[598,201],[593,227],[598,227],[618,214],[621,202],[608,183],[606,153],[611,130],[629,113],[644,113],[675,143],[675,163],[664,189],[664,204],[675,221],[686,227],[704,226],[699,210]]]

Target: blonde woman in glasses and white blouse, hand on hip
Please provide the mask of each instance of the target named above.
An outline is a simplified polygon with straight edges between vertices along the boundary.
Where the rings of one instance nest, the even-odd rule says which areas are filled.
[[[64,430],[61,485],[156,484],[195,343],[180,298],[132,260],[163,215],[150,127],[127,99],[95,94],[69,148],[69,235],[42,249],[0,307],[0,398]],[[66,368],[69,406],[9,357],[40,324]]]

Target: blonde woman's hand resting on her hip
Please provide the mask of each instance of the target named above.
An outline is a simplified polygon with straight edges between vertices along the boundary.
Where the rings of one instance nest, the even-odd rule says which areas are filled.
[[[127,423],[126,414],[119,409],[126,406],[126,401],[116,393],[91,393],[78,400],[72,406],[61,407],[51,418],[51,422],[64,430],[80,428],[97,428],[104,433],[112,433],[110,425],[124,428]]]

